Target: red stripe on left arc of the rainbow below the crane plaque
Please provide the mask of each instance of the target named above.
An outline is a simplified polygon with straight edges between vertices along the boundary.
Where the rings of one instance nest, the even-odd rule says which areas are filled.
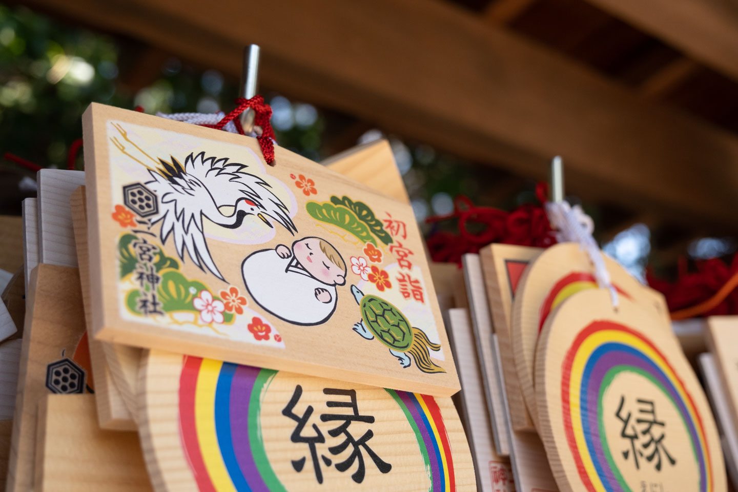
[[[182,374],[179,376],[179,437],[182,438],[182,451],[190,469],[195,475],[197,487],[201,492],[216,492],[205,462],[202,460],[200,444],[197,440],[195,422],[195,392],[202,358],[184,356]]]

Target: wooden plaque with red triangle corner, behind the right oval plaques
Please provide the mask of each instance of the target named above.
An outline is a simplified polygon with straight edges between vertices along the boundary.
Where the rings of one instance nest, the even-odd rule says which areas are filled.
[[[505,378],[510,425],[516,431],[534,431],[535,427],[525,406],[523,390],[517,378],[512,350],[511,311],[520,279],[525,268],[541,254],[540,248],[490,244],[480,249],[484,282],[487,286],[489,311],[494,320],[494,333],[500,343],[500,361]]]

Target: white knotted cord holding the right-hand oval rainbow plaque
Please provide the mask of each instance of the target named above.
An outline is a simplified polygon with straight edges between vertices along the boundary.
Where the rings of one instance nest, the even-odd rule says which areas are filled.
[[[557,229],[556,240],[559,243],[579,243],[579,247],[587,253],[595,267],[595,279],[600,288],[607,288],[613,299],[613,307],[618,307],[618,291],[610,281],[610,272],[604,264],[604,256],[592,237],[594,223],[582,207],[571,207],[566,201],[546,202],[546,214],[551,226]]]

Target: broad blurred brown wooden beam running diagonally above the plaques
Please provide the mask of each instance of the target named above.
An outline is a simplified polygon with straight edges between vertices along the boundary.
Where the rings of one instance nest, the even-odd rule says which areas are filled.
[[[232,75],[255,42],[291,97],[535,179],[561,154],[568,193],[738,226],[734,135],[445,1],[30,3]]]

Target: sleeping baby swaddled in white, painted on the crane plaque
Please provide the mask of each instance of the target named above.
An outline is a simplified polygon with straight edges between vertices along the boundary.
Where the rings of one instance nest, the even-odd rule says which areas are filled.
[[[320,325],[336,311],[346,263],[331,243],[302,238],[249,254],[241,265],[246,290],[269,313],[294,325]]]

